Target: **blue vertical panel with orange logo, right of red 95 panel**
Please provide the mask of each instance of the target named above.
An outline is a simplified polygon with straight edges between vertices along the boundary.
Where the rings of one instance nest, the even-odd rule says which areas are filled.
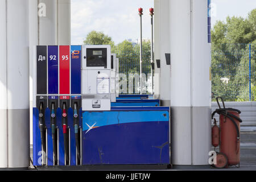
[[[81,94],[81,46],[71,46],[71,94]]]

